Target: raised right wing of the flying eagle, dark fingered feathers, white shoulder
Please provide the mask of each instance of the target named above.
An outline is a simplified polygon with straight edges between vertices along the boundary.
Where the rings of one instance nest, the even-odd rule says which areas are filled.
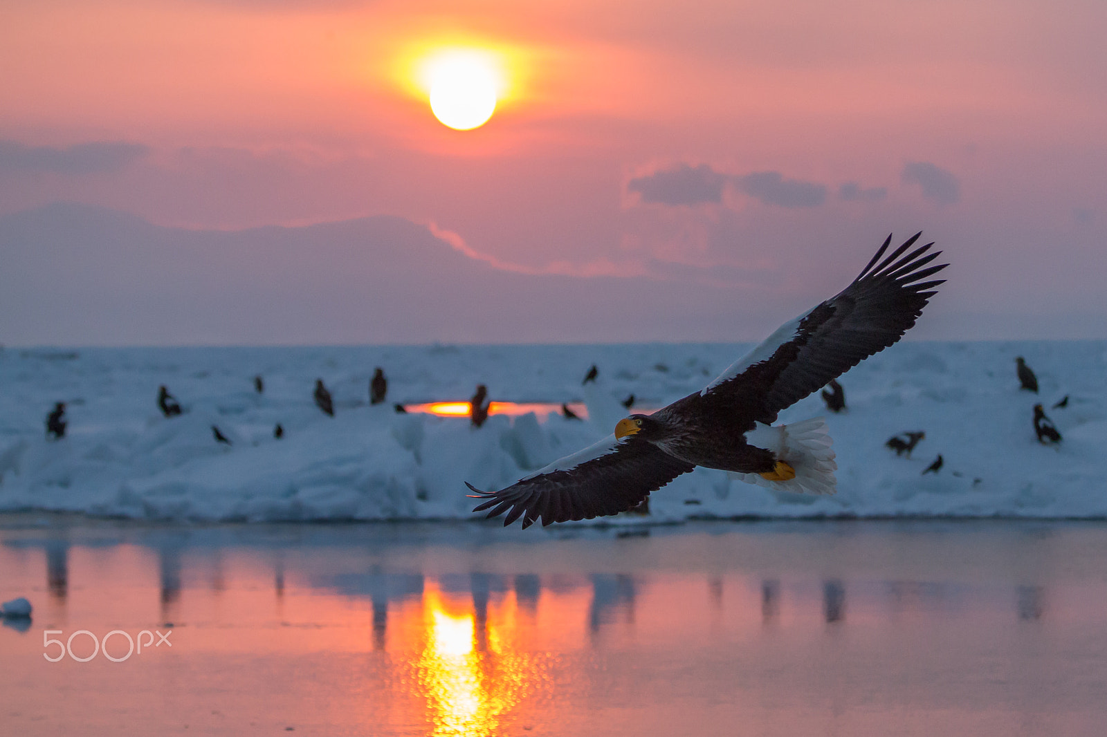
[[[814,310],[785,323],[701,393],[706,407],[772,424],[777,414],[825,386],[906,333],[944,279],[922,281],[948,264],[928,266],[933,243],[907,256],[915,233],[884,258],[891,236],[853,282]],[[878,264],[879,261],[879,264]]]

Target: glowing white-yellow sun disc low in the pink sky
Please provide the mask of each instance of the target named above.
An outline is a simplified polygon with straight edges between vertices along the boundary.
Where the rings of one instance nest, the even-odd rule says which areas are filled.
[[[435,117],[457,131],[484,125],[504,89],[497,59],[478,50],[439,52],[424,63],[422,76]]]

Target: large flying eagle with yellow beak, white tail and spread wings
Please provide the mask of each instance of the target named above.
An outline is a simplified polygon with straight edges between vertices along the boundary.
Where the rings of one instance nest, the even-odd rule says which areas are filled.
[[[921,233],[919,233],[921,235]],[[523,527],[592,519],[637,507],[696,466],[732,471],[782,491],[832,494],[834,451],[821,418],[773,427],[778,413],[882,351],[907,332],[943,280],[928,266],[933,243],[886,257],[891,237],[845,290],[785,323],[700,392],[652,415],[620,419],[614,433],[498,491],[474,511]],[[648,295],[646,295],[648,297]]]

